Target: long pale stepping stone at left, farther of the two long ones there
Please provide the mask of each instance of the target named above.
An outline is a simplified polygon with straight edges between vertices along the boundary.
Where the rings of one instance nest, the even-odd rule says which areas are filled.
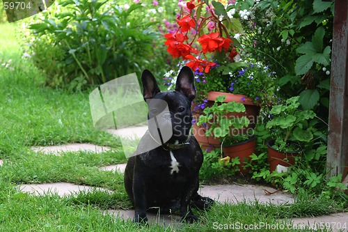
[[[91,151],[95,153],[103,153],[106,150],[110,150],[109,147],[106,146],[97,146],[94,144],[65,144],[61,146],[39,146],[31,148],[36,153],[53,153],[59,155],[59,153],[63,152],[78,152],[78,151]]]

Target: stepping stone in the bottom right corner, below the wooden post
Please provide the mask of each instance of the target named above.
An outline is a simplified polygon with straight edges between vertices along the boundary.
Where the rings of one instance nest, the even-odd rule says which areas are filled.
[[[333,215],[322,215],[319,217],[293,218],[294,228],[304,229],[303,226],[309,226],[315,231],[322,231],[322,229],[332,229],[336,231],[348,231],[348,212],[335,213]],[[325,227],[321,227],[325,226]],[[308,227],[307,227],[308,228]]]

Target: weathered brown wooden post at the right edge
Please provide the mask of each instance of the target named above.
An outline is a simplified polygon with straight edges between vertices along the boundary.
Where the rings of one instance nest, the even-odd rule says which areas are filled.
[[[335,0],[331,58],[329,111],[328,177],[342,173],[348,167],[348,4]]]

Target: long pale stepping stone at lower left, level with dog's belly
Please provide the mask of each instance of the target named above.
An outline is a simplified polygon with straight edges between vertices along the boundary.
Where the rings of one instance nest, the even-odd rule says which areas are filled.
[[[68,196],[77,194],[81,191],[104,190],[100,187],[91,187],[86,185],[74,185],[72,183],[45,183],[35,185],[18,185],[21,192],[42,196],[47,193],[57,193],[59,196]],[[109,190],[104,190],[109,191]]]

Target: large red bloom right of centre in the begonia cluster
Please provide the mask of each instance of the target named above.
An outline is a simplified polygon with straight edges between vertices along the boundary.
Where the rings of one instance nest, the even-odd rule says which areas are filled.
[[[214,52],[217,49],[220,52],[222,49],[226,51],[230,47],[230,42],[232,42],[229,38],[219,37],[219,33],[217,32],[200,36],[197,41],[202,45],[203,53]]]

